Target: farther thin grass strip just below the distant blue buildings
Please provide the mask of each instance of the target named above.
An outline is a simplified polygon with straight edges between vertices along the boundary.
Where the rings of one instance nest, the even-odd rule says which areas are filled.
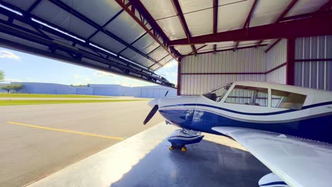
[[[109,96],[65,95],[65,94],[0,94],[0,98],[110,98]]]

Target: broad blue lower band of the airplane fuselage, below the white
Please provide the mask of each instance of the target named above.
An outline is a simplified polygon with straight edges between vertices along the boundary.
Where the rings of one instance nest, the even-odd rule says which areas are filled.
[[[189,110],[160,110],[160,113],[164,118],[180,125],[182,128],[209,132],[216,135],[221,134],[212,130],[212,128],[217,126],[231,126],[267,130],[332,143],[332,115],[285,123],[252,123],[227,118],[209,111],[199,111],[199,109],[196,109],[194,114],[190,116],[186,115],[188,111]]]

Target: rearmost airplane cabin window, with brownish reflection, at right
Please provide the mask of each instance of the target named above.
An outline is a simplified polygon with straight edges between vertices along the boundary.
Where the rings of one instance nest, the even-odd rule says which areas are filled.
[[[295,94],[288,91],[272,89],[271,94],[271,106],[274,108],[301,110],[304,101],[306,101],[306,95]]]

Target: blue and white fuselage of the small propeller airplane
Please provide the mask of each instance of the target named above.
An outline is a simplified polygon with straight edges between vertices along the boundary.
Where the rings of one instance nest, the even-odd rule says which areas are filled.
[[[264,85],[260,86],[264,87]],[[266,85],[267,89],[268,86],[269,84]],[[233,88],[234,85],[231,89]],[[231,91],[228,91],[218,102],[206,96],[162,98],[159,101],[159,111],[167,121],[181,128],[216,135],[221,134],[212,128],[231,126],[267,130],[332,143],[331,92],[302,89],[297,86],[277,87],[286,91],[289,91],[288,88],[290,91],[306,95],[306,101],[301,109],[272,107],[272,100],[275,98],[271,98],[269,90],[268,97],[266,94],[266,98],[260,98],[260,100],[268,100],[268,102],[264,101],[266,106],[258,103],[244,105],[226,102],[227,96],[231,95]],[[316,98],[313,99],[313,96]]]

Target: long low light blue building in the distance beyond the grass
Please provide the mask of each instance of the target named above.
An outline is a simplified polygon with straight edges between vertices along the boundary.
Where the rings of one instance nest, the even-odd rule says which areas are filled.
[[[78,94],[96,96],[134,96],[142,98],[160,98],[176,96],[177,90],[166,86],[138,86],[128,87],[118,84],[89,84],[89,86],[69,86],[65,84],[40,83],[40,82],[11,82],[23,84],[20,93],[25,94]],[[0,90],[0,92],[5,92]]]

